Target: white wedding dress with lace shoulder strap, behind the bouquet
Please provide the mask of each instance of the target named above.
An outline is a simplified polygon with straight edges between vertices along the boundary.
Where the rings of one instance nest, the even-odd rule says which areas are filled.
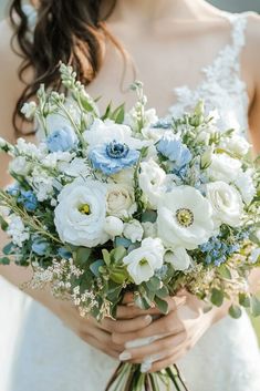
[[[190,90],[175,89],[173,114],[199,97],[216,106],[225,127],[248,127],[248,96],[240,78],[247,14],[223,13],[232,42]],[[0,280],[0,391],[103,391],[117,362],[80,340],[38,302]],[[260,391],[260,354],[250,320],[227,317],[179,362],[190,391]]]

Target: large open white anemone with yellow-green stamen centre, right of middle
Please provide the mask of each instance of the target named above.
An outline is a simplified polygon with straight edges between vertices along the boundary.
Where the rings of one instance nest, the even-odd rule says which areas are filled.
[[[195,249],[214,233],[210,203],[194,187],[166,193],[158,205],[158,235],[166,246]]]

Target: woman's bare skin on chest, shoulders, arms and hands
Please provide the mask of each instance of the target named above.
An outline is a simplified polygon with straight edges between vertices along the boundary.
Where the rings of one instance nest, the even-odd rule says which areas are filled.
[[[133,59],[137,78],[145,84],[149,105],[157,107],[159,115],[164,115],[166,107],[175,102],[171,89],[184,83],[196,86],[201,80],[201,68],[210,64],[216,53],[230,40],[230,25],[227,20],[219,10],[202,0],[119,0],[107,25]],[[20,59],[9,45],[11,35],[8,22],[0,23],[0,133],[14,142],[11,115],[23,85],[17,75]],[[241,55],[241,76],[248,88],[250,137],[256,152],[260,152],[259,43],[260,18],[250,16],[247,47]],[[190,63],[193,74],[189,72]],[[101,109],[104,109],[110,100],[115,105],[126,102],[127,107],[134,103],[134,94],[122,89],[118,76],[122,70],[122,55],[108,43],[104,65],[87,88],[93,96],[98,96],[102,91]],[[197,75],[196,82],[194,74]],[[27,74],[27,79],[30,78],[31,71]],[[124,88],[133,82],[133,69],[128,66]],[[22,127],[24,134],[28,131]],[[10,181],[6,174],[7,157],[0,156],[0,186],[6,186]],[[6,238],[1,235],[3,244]],[[31,271],[11,266],[0,267],[0,274],[11,284],[19,286],[30,278]],[[259,271],[252,274],[252,289],[259,277]],[[154,357],[155,362],[149,371],[157,371],[183,358],[214,323],[227,315],[229,305],[226,302],[220,309],[204,313],[199,300],[187,292],[180,292],[179,297],[168,298],[169,312],[159,317],[156,309],[142,311],[135,308],[132,297],[127,296],[125,306],[118,308],[117,320],[105,319],[98,325],[93,319],[81,318],[74,307],[54,299],[49,291],[28,294],[60,317],[85,342],[106,354],[118,358],[124,352],[124,357],[131,362],[143,362],[147,357]],[[150,315],[157,315],[157,318],[153,320]],[[160,336],[160,339],[139,348],[131,348],[127,343],[136,338],[153,336]],[[158,351],[160,357],[156,357]]]

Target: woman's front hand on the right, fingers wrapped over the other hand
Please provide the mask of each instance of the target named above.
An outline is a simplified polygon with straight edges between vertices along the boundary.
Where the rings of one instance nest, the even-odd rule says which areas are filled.
[[[125,346],[121,361],[142,363],[143,372],[156,372],[181,359],[218,318],[218,310],[204,312],[204,302],[188,292],[185,306],[176,306],[174,297],[167,298],[168,313],[146,328],[116,333],[112,339]]]

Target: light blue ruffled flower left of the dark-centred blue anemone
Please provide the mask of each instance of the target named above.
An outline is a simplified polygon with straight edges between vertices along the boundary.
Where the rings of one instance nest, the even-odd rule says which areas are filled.
[[[50,152],[66,152],[73,150],[77,144],[75,132],[70,126],[62,126],[53,131],[46,137]]]

